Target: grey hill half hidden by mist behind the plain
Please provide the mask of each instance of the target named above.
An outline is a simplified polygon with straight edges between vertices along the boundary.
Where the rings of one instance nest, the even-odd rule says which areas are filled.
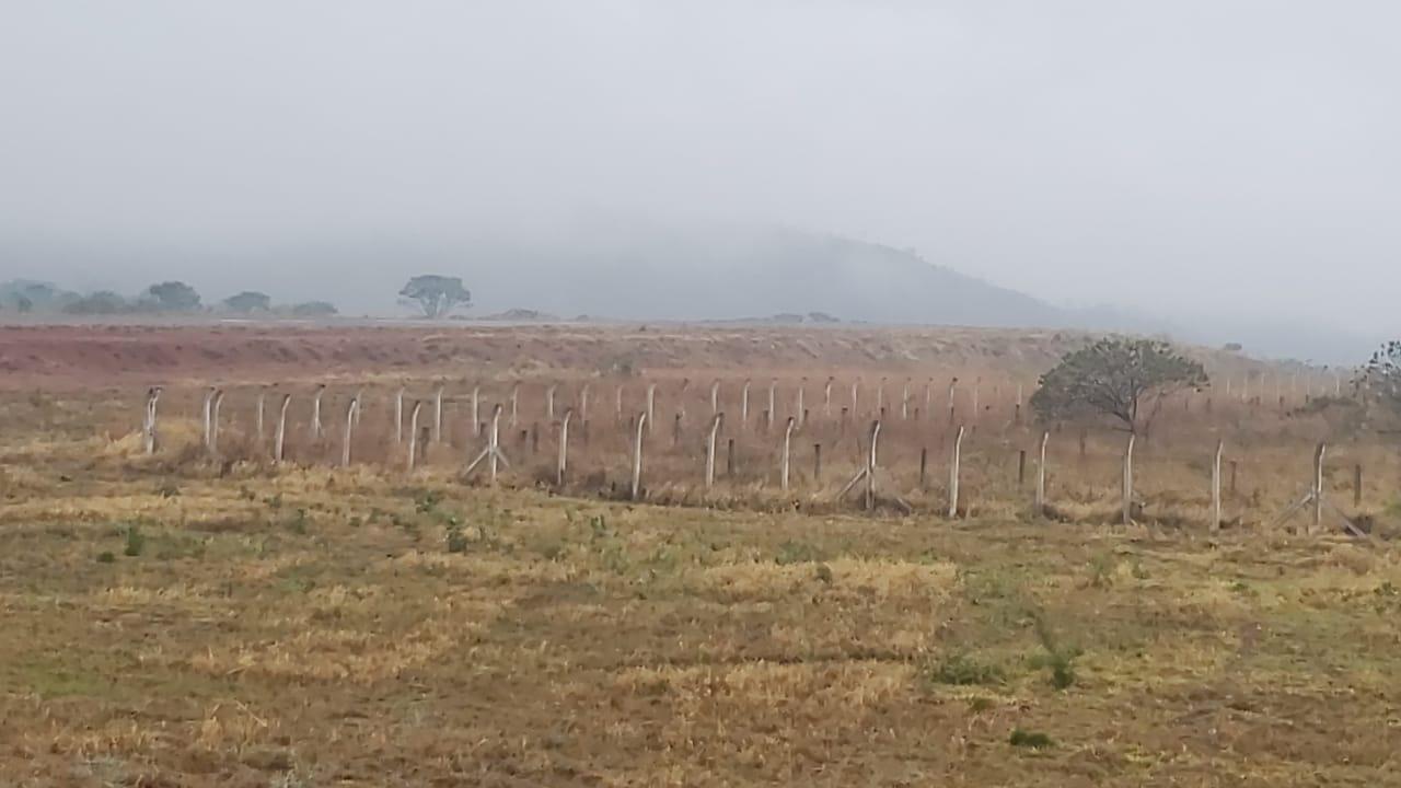
[[[481,261],[481,262],[476,262]],[[503,245],[461,266],[478,311],[528,307],[626,320],[827,313],[843,321],[1051,325],[1058,310],[912,251],[786,230]]]

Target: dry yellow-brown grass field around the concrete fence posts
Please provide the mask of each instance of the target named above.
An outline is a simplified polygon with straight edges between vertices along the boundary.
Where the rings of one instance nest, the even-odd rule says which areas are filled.
[[[538,411],[549,376],[576,384],[604,358],[653,352],[586,339],[524,339],[555,355],[530,373],[490,367],[492,401],[511,370]],[[706,346],[700,362],[677,352],[647,369],[672,391],[686,376],[761,379],[748,356]],[[794,362],[782,377],[869,383],[888,369],[895,381],[954,363],[941,353]],[[1009,381],[1054,358],[958,353],[972,366],[957,369]],[[55,362],[7,380],[0,785],[1397,782],[1394,458],[1344,443],[1330,475],[1356,515],[1351,466],[1366,458],[1373,538],[1272,523],[1334,430],[1321,415],[1184,404],[1147,449],[1133,526],[1110,523],[1111,437],[1091,435],[1072,461],[1072,428],[1052,482],[1068,516],[1030,516],[1009,468],[1035,433],[1009,418],[1007,383],[985,394],[1000,411],[981,416],[961,519],[932,513],[943,466],[925,489],[911,464],[926,443],[941,458],[933,423],[891,443],[887,487],[913,515],[835,503],[853,458],[779,495],[772,435],[750,433],[737,433],[741,478],[700,489],[688,432],[658,449],[649,502],[630,503],[607,492],[626,454],[601,426],[563,494],[535,484],[548,433],[499,488],[465,484],[479,440],[461,428],[461,386],[458,426],[406,473],[382,421],[396,358],[353,376],[277,370],[298,395],[329,377],[377,397],[349,468],[331,467],[333,439],[268,463],[247,397],[226,405],[226,454],[200,453],[199,388],[268,381],[265,366],[151,381],[171,391],[154,457],[136,435],[149,370],[83,388],[81,365]],[[419,391],[451,374],[415,372]],[[808,435],[839,442],[839,429]],[[1248,453],[1231,527],[1208,533],[1198,446],[1217,437]]]

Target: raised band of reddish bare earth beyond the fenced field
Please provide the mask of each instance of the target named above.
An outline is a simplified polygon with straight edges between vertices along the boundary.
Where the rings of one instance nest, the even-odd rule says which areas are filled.
[[[476,377],[734,370],[817,374],[870,369],[1044,367],[1073,335],[971,328],[691,325],[11,325],[0,327],[0,387],[69,388],[182,380],[297,380],[403,373]]]

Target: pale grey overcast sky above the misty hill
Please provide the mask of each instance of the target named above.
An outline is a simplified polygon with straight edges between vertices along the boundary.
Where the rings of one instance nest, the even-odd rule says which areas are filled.
[[[779,223],[1056,303],[1397,334],[1398,29],[1348,0],[8,0],[0,241]]]

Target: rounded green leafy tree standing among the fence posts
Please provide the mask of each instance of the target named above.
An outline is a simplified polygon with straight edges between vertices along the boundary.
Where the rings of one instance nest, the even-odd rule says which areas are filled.
[[[1042,374],[1031,407],[1042,421],[1108,418],[1119,429],[1142,433],[1166,397],[1206,384],[1202,365],[1167,342],[1104,338]]]

